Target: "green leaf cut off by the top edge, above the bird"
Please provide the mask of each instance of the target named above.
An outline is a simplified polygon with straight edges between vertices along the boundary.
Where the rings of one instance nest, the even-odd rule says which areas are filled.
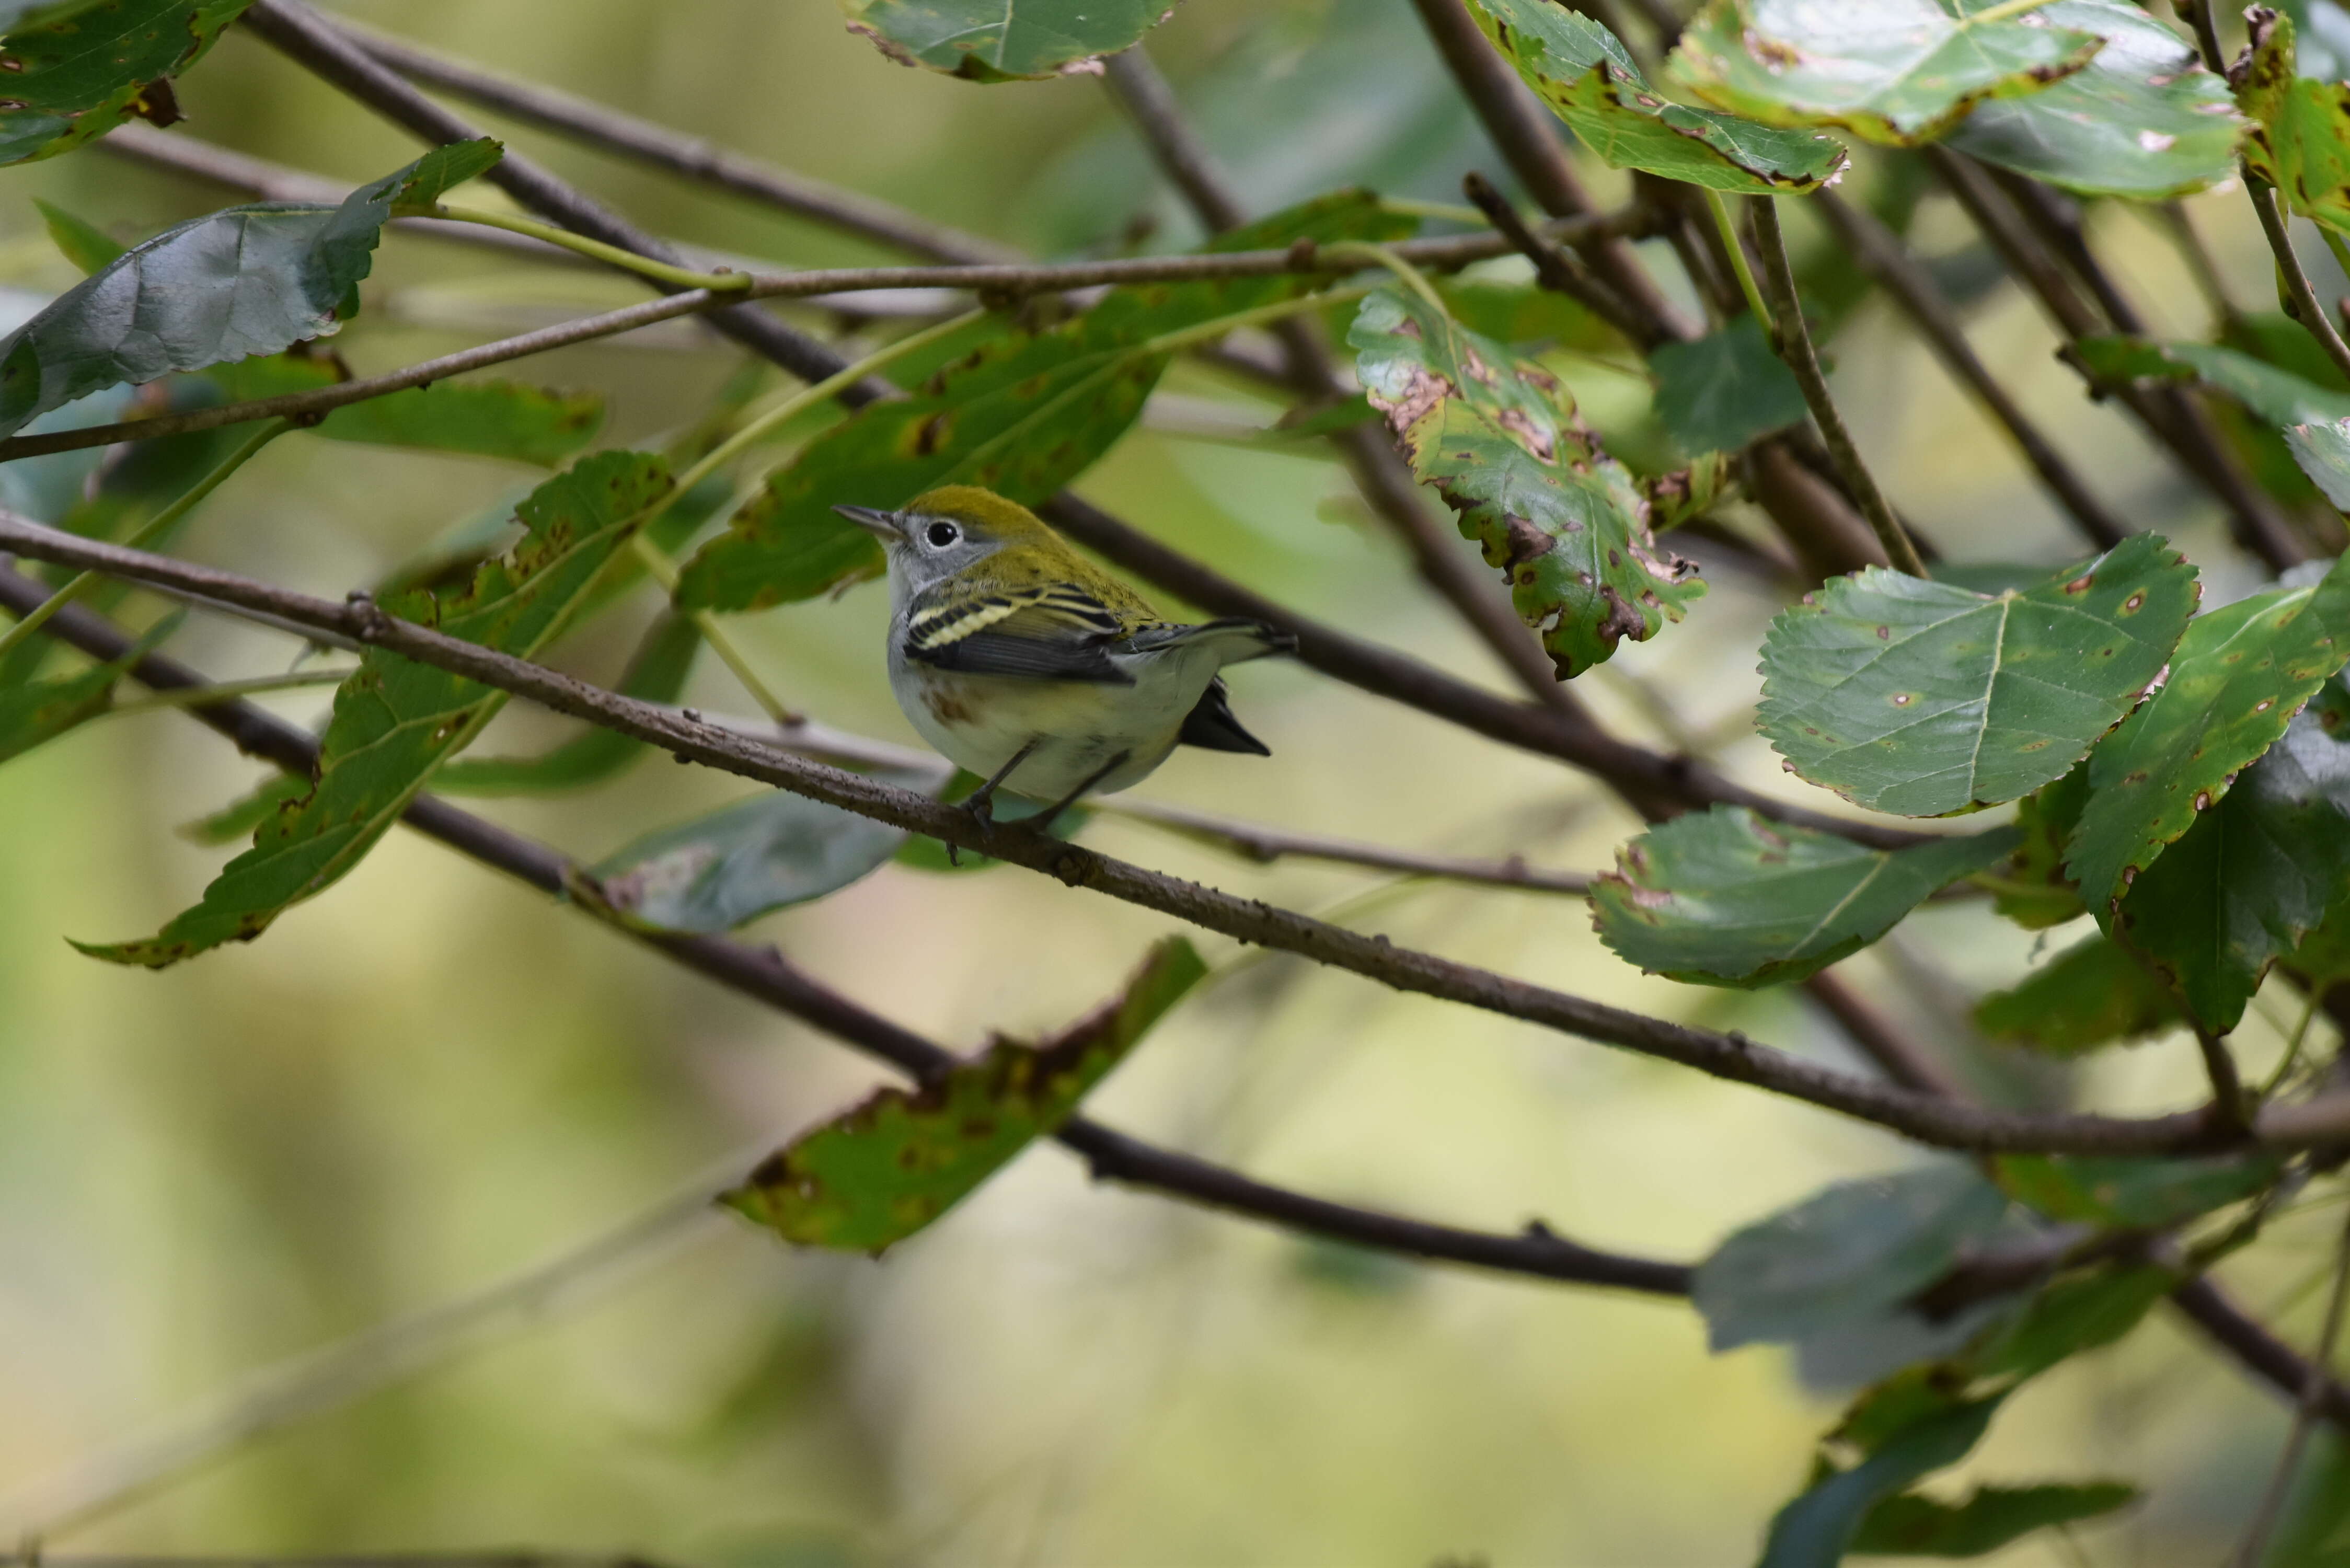
[[[841,0],[848,31],[900,66],[966,82],[1100,73],[1175,14],[1166,0]]]

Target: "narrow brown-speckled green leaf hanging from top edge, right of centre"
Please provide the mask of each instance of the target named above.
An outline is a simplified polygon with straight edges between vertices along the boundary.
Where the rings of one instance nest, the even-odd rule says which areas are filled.
[[[1805,193],[1845,172],[1826,136],[1668,103],[1624,42],[1551,0],[1469,0],[1469,14],[1528,87],[1614,169],[1645,169],[1708,190]]]

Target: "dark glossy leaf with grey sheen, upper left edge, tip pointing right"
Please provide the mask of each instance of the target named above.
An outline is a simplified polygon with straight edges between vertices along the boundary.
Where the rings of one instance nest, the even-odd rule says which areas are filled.
[[[230,207],[134,244],[0,339],[0,435],[122,381],[273,355],[336,331],[392,205],[435,200],[498,155],[496,141],[458,141],[352,190],[341,207]]]

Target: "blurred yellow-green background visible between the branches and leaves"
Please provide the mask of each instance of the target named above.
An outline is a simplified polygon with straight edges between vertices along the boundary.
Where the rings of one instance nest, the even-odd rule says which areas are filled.
[[[1147,244],[1189,235],[1093,78],[982,89],[905,71],[820,0],[343,9],[1039,254],[1116,249],[1140,219],[1154,226]],[[1450,200],[1462,169],[1499,172],[1405,0],[1189,0],[1149,47],[1253,205],[1344,181]],[[181,99],[179,134],[336,181],[414,155],[242,33]],[[771,263],[884,259],[545,136],[512,141],[682,240]],[[1622,195],[1617,176],[1589,174]],[[0,282],[38,294],[75,273],[33,197],[122,240],[237,200],[103,150],[19,169],[0,200]],[[2193,207],[2240,299],[2263,301],[2268,261],[2242,195]],[[2202,334],[2204,306],[2153,226],[2120,209],[2094,221],[2157,331]],[[1929,197],[1915,240],[1950,277],[1979,280],[1979,350],[2101,494],[2190,548],[2207,604],[2247,590],[2254,576],[2216,517],[2080,395],[2033,306],[1979,266],[1962,216]],[[2334,280],[2324,273],[2322,292]],[[392,235],[336,348],[367,374],[637,296],[623,280]],[[1950,557],[2077,552],[1882,306],[1849,317],[1831,350],[1864,449]],[[1605,433],[1654,442],[1643,381],[1556,362]],[[625,444],[691,423],[738,369],[714,336],[672,324],[515,374],[599,388],[604,440]],[[1269,414],[1198,369],[1177,369],[1168,390]],[[1184,411],[1163,402],[1079,489],[1281,599],[1506,689],[1349,498],[1344,470],[1295,447],[1198,440],[1180,428]],[[186,550],[343,592],[529,480],[489,461],[291,437],[204,505]],[[1755,527],[1737,510],[1732,522]],[[1741,778],[1793,790],[1748,724],[1779,588],[1718,559],[1708,576],[1685,625],[1579,686],[1626,733],[1671,741],[1680,726]],[[644,611],[597,625],[564,663],[611,679]],[[747,618],[740,635],[818,717],[912,743],[884,684],[884,592],[860,588]],[[291,656],[280,637],[216,621],[174,646],[216,677],[268,675]],[[1633,832],[1574,773],[1297,668],[1250,665],[1234,686],[1276,759],[1187,752],[1142,795],[1556,867],[1600,867]],[[693,701],[747,710],[707,658]],[[301,722],[324,703],[273,698]],[[562,733],[517,710],[484,750]],[[193,900],[226,851],[174,825],[258,776],[174,715],[99,722],[0,771],[0,1493],[110,1455],[287,1356],[557,1255],[881,1081],[827,1039],[407,835],[251,947],[148,976],[63,943],[146,933]],[[651,762],[585,797],[486,809],[595,858],[738,795],[740,780]],[[1342,905],[1398,943],[1854,1065],[1798,997],[1629,971],[1579,900],[1403,886],[1344,903],[1382,884],[1250,867],[1133,823],[1086,832],[1250,896]],[[752,936],[973,1046],[1090,1006],[1163,924],[1015,870],[891,865]],[[1845,973],[1965,1051],[1967,999],[2070,936],[2042,945],[1946,905]],[[1676,1067],[1292,959],[1238,961],[1215,938],[1203,947],[1231,973],[1161,1025],[1095,1110],[1267,1180],[1495,1229],[1542,1218],[1596,1246],[1692,1258],[1826,1180],[1913,1159],[1866,1126]],[[2249,1072],[2265,1070],[2287,1013],[2270,997],[2247,1020]],[[2197,1088],[2183,1039],[2108,1053],[2068,1086],[2146,1112],[2190,1105]],[[2329,1227],[2287,1220],[2272,1246],[2228,1265],[2230,1288],[2305,1333]],[[1043,1147],[879,1262],[792,1253],[710,1215],[625,1276],[503,1319],[465,1356],[52,1544],[625,1547],[778,1568],[1732,1563],[1802,1481],[1838,1403],[1779,1352],[1711,1359],[1685,1305],[1309,1244],[1093,1187]],[[1948,1481],[2122,1476],[2153,1493],[2120,1521],[2030,1540],[2000,1563],[2207,1563],[2249,1512],[2282,1429],[2272,1399],[2155,1321],[2019,1396]]]

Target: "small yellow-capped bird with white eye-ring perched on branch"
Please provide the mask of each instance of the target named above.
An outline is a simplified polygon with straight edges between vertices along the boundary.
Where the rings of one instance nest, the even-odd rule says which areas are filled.
[[[832,508],[888,550],[888,684],[921,738],[999,788],[1055,802],[1147,778],[1177,745],[1271,750],[1224,701],[1224,665],[1292,654],[1257,621],[1173,625],[1025,505],[947,484],[902,510]]]

